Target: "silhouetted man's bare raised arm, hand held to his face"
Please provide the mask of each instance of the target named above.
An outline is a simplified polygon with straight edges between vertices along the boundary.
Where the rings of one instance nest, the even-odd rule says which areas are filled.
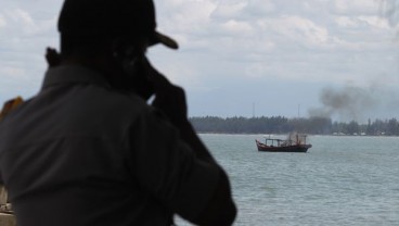
[[[232,199],[230,181],[224,171],[214,160],[205,145],[201,141],[186,116],[184,90],[170,84],[158,74],[155,84],[156,98],[154,106],[160,109],[169,121],[180,130],[182,139],[192,148],[196,156],[220,171],[219,181],[207,206],[193,223],[198,225],[231,225],[236,216],[236,208]]]

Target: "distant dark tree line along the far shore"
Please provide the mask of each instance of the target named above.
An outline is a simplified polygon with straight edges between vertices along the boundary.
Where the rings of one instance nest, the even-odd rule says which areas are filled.
[[[287,118],[271,117],[190,117],[197,133],[215,134],[288,134],[291,131],[312,135],[368,135],[399,136],[399,122],[390,120],[369,120],[365,124],[351,121],[333,122],[327,117]]]

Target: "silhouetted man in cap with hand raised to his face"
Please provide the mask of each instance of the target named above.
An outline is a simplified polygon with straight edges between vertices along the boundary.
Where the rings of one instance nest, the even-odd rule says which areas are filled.
[[[183,89],[145,58],[177,43],[151,0],[66,0],[61,59],[0,122],[0,173],[18,226],[231,225],[230,183],[186,117]],[[152,105],[146,100],[155,95]]]

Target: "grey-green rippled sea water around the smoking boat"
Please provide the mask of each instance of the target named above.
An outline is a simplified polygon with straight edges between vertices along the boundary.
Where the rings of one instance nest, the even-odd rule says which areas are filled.
[[[234,225],[399,226],[399,137],[309,136],[307,153],[258,152],[263,137],[201,135],[230,176]]]

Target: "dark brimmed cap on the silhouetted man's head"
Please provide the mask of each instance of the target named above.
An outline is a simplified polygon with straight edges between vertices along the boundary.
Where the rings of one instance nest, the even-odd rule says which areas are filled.
[[[156,32],[152,0],[65,0],[59,17],[63,36],[144,36],[150,45],[163,43],[178,49],[178,43]]]

